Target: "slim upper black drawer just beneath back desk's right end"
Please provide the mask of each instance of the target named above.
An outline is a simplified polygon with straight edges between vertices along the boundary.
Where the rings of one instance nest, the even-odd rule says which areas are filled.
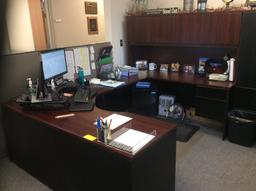
[[[227,91],[224,89],[197,87],[196,97],[205,97],[205,98],[211,98],[216,100],[226,100],[228,96],[227,96]]]

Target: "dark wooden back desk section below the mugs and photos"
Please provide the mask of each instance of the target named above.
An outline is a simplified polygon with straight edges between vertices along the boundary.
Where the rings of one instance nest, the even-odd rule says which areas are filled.
[[[226,138],[227,113],[230,109],[230,94],[235,85],[234,82],[211,81],[193,74],[159,71],[140,71],[138,76],[132,76],[125,81],[132,85],[141,80],[152,81],[158,87],[160,94],[175,95],[178,103],[185,107],[194,107],[196,115],[221,122],[223,124],[223,139]],[[109,91],[113,90],[111,88],[99,90],[102,95]],[[128,102],[132,95],[129,94],[129,91],[126,94],[125,98]],[[111,95],[105,97],[105,104],[101,102],[99,105],[104,106],[104,109],[108,109],[109,105],[112,105],[113,107],[110,109],[114,110],[116,108],[118,110],[120,105],[123,105],[121,109],[128,107],[129,104],[124,105],[122,100],[116,105],[121,96],[124,96],[124,91],[115,97],[114,102]]]

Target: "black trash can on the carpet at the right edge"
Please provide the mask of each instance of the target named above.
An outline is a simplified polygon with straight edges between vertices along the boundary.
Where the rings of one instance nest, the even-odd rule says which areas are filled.
[[[251,147],[256,132],[256,113],[245,110],[233,110],[228,114],[228,140]]]

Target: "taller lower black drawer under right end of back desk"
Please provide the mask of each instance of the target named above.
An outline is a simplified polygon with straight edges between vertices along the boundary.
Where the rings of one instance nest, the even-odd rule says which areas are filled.
[[[196,115],[224,121],[227,113],[227,103],[207,98],[196,98]]]

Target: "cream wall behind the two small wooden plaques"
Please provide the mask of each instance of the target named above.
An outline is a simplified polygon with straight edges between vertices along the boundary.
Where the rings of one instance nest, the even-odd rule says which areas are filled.
[[[84,0],[51,0],[51,14],[56,47],[77,46],[105,41],[104,4],[98,4],[97,15],[86,15]],[[99,33],[88,35],[87,16],[97,16]],[[56,22],[56,19],[61,22]]]

